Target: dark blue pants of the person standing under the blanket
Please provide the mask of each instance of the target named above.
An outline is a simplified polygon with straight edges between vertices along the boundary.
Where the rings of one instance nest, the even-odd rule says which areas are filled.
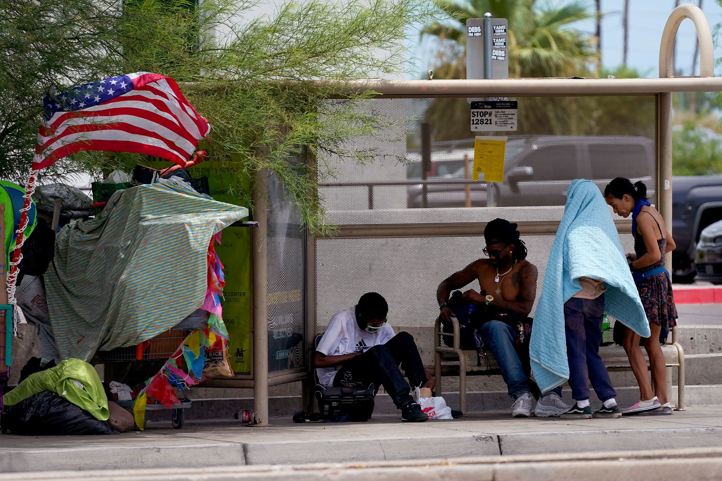
[[[617,397],[604,361],[599,357],[602,316],[604,294],[596,299],[571,298],[564,304],[569,386],[577,401],[589,399],[588,381],[601,401]]]

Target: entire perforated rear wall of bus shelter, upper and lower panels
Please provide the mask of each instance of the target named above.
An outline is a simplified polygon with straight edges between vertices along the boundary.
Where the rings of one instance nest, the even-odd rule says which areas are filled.
[[[518,130],[508,135],[503,183],[470,181],[474,136],[469,103],[479,98],[375,98],[359,108],[378,118],[378,134],[347,139],[364,162],[319,152],[319,193],[338,225],[558,222],[575,178],[600,188],[616,176],[644,181],[654,198],[656,98],[518,97]],[[342,100],[331,102],[342,104]],[[488,137],[487,137],[488,138]],[[483,180],[483,178],[482,178]],[[454,183],[461,181],[461,183]],[[390,185],[391,184],[391,185]],[[466,186],[469,185],[469,188]],[[618,219],[616,215],[613,215]],[[433,363],[436,289],[483,258],[481,237],[336,238],[316,242],[316,332],[375,291],[389,303],[396,332],[414,336]],[[631,252],[632,235],[622,246]],[[554,235],[525,235],[539,269],[537,298]],[[467,288],[479,289],[478,282]],[[535,303],[536,306],[536,303]]]

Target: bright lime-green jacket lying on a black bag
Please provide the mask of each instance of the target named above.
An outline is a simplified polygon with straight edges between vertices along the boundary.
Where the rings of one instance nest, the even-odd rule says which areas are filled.
[[[82,387],[73,380],[82,383]],[[95,368],[79,359],[66,359],[54,368],[31,374],[17,388],[3,396],[6,406],[13,406],[40,391],[52,391],[98,420],[108,420],[108,397]]]

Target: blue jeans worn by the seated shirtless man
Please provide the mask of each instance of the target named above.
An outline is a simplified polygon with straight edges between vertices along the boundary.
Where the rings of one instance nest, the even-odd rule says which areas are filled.
[[[522,394],[531,391],[534,397],[539,396],[539,388],[529,379],[529,347],[514,345],[516,331],[502,321],[488,321],[482,326],[482,341],[496,358],[501,369],[501,376],[509,388],[509,395],[516,400]],[[521,354],[521,358],[520,358]],[[525,355],[526,354],[526,355]],[[562,395],[562,387],[552,391]],[[547,394],[547,393],[544,393]]]

